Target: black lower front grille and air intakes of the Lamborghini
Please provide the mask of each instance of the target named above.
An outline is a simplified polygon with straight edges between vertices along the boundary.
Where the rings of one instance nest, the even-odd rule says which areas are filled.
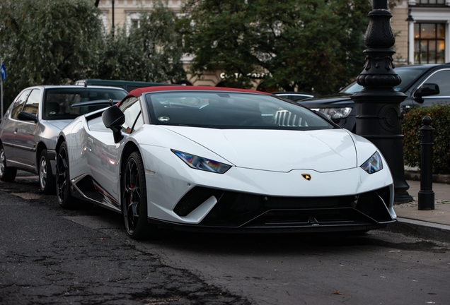
[[[188,215],[209,197],[217,204],[200,225],[208,227],[270,227],[273,225],[374,225],[392,221],[383,204],[389,188],[352,196],[276,197],[196,187],[175,206]]]

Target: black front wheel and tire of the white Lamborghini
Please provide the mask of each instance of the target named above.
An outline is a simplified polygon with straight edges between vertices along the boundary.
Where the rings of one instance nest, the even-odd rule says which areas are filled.
[[[121,205],[125,229],[131,239],[156,236],[156,226],[147,221],[145,170],[139,152],[132,152],[127,158],[122,175]]]

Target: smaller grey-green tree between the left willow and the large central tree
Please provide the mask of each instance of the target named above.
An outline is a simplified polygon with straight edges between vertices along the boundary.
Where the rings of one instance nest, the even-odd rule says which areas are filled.
[[[176,15],[161,1],[141,11],[139,27],[105,37],[98,78],[178,83],[186,77]]]

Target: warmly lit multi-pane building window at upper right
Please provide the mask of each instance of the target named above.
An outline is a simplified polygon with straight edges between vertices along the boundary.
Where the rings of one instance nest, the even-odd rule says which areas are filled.
[[[415,64],[444,64],[444,51],[445,23],[415,23]]]

